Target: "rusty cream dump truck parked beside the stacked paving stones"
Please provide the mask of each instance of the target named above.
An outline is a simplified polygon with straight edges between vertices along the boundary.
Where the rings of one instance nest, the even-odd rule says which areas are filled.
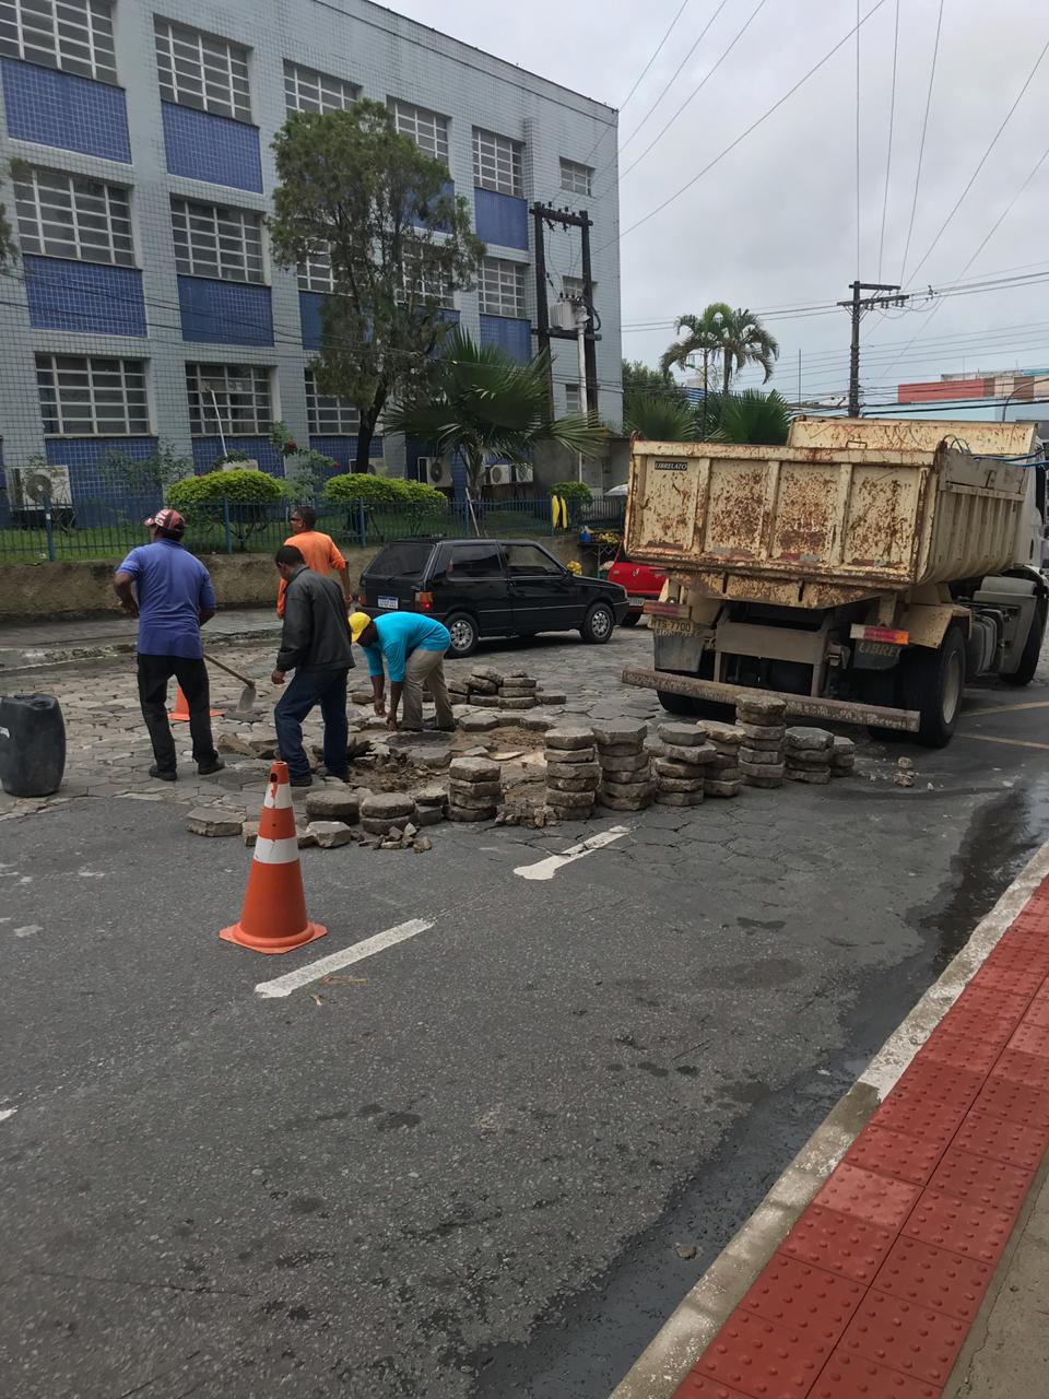
[[[948,743],[966,679],[1034,676],[1049,610],[1034,424],[796,418],[786,446],[635,441],[624,547],[670,713],[775,693],[797,718]]]

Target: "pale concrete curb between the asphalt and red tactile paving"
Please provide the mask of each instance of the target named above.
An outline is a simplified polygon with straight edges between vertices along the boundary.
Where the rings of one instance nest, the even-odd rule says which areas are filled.
[[[943,975],[815,1129],[761,1205],[687,1294],[611,1399],[670,1399],[747,1294],[827,1177],[867,1125],[1038,886],[1049,841],[1032,856]]]

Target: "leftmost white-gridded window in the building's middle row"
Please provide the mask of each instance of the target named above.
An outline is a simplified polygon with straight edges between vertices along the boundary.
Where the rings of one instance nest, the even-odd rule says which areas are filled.
[[[126,189],[45,169],[21,169],[13,186],[24,253],[134,266]]]

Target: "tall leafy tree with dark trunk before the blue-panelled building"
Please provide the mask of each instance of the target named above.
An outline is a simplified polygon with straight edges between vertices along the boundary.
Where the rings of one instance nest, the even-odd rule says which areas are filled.
[[[297,112],[273,144],[273,256],[281,267],[330,262],[312,369],[320,393],[359,410],[354,470],[366,471],[383,409],[427,382],[452,330],[450,294],[473,285],[485,248],[467,201],[446,193],[446,166],[378,102]]]

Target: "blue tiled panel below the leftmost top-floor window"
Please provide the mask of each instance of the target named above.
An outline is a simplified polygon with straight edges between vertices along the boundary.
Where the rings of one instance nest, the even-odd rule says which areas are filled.
[[[7,130],[22,141],[131,164],[123,88],[0,59]]]

